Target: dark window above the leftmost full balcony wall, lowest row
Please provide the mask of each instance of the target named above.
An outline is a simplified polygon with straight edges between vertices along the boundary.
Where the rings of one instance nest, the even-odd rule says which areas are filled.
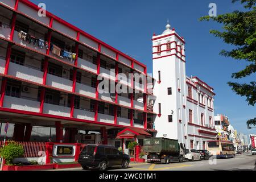
[[[7,81],[5,95],[10,97],[20,98],[20,92],[22,87],[21,85],[22,84],[19,81],[14,81],[14,80]]]

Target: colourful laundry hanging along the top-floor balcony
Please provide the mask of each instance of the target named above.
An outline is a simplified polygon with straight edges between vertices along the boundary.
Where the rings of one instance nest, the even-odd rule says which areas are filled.
[[[57,47],[55,44],[48,43],[47,41],[43,39],[38,39],[35,36],[32,36],[30,34],[27,34],[26,32],[20,30],[18,34],[20,39],[23,39],[24,41],[28,42],[29,44],[33,43],[34,46],[38,46],[39,48],[46,47],[46,49],[50,49],[54,55],[57,55],[61,58],[69,59],[70,61],[74,61],[76,59],[76,53],[72,53],[69,51],[66,51],[64,49],[61,49]]]

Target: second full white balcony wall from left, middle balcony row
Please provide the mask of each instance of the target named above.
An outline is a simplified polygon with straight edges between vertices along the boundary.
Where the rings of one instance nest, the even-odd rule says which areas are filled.
[[[62,78],[62,77],[57,77],[51,74],[47,74],[46,84],[58,89],[67,90],[69,92],[72,92],[72,88],[73,88],[72,86],[73,81]]]

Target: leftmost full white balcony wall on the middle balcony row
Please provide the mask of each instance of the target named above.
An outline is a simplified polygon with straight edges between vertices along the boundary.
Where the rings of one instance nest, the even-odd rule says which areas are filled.
[[[43,72],[38,71],[34,68],[28,68],[23,65],[10,63],[8,74],[18,78],[22,78],[24,80],[43,84]]]

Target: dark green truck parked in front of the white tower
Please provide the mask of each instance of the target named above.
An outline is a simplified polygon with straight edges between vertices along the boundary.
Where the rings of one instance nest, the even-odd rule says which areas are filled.
[[[178,140],[168,138],[144,138],[143,150],[148,163],[165,163],[172,160],[183,162],[185,147]]]

